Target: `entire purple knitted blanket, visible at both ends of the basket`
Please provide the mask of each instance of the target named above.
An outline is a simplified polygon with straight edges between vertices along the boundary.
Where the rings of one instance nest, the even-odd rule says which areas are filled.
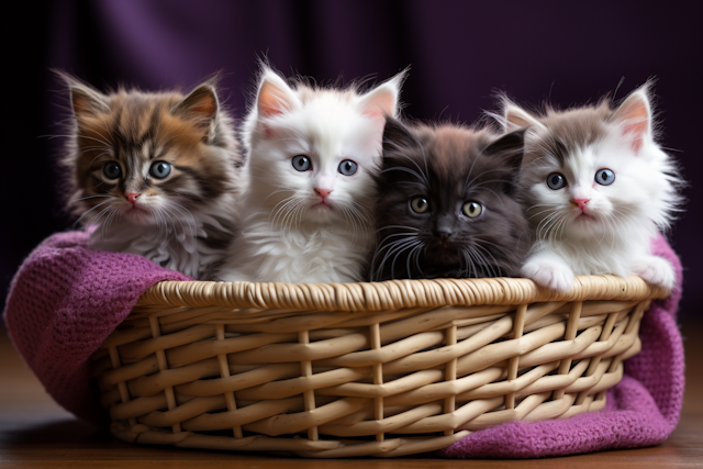
[[[77,232],[44,241],[18,271],[4,319],[15,347],[47,392],[78,417],[105,424],[107,412],[90,380],[90,356],[146,289],[161,280],[191,279],[138,256],[90,249],[87,241]],[[681,284],[681,265],[663,237],[652,250],[673,264]],[[609,391],[603,411],[499,425],[436,456],[535,458],[662,442],[676,427],[683,400],[683,345],[676,324],[680,297],[677,289],[647,311],[641,351],[625,362],[625,377]]]

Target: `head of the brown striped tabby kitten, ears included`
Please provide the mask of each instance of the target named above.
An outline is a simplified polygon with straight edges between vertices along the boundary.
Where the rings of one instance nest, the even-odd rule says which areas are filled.
[[[230,189],[234,148],[217,133],[217,103],[209,86],[188,98],[137,91],[102,96],[75,86],[71,99],[74,203],[83,224],[118,219],[177,224]]]

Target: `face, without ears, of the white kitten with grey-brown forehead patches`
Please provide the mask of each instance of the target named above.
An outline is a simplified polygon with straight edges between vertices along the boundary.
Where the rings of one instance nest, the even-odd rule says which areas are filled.
[[[538,237],[613,237],[623,224],[660,209],[657,200],[669,183],[643,147],[643,137],[637,139],[617,118],[602,104],[550,112],[534,123],[522,183]],[[648,129],[645,124],[640,131]]]

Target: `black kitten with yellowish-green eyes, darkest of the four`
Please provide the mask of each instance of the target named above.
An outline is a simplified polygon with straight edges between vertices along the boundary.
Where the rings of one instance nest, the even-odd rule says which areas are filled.
[[[523,133],[388,119],[371,279],[518,276]]]

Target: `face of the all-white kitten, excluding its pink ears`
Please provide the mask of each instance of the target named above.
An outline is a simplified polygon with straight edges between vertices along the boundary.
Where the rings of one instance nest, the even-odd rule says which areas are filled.
[[[319,91],[265,125],[253,150],[253,189],[279,221],[324,224],[369,204],[380,131],[353,103]]]

